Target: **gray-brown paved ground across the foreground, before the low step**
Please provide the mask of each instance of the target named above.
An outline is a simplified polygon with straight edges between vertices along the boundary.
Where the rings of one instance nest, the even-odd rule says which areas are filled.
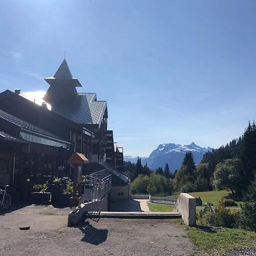
[[[86,220],[67,227],[69,208],[18,205],[0,215],[0,255],[191,255],[193,245],[171,220]],[[30,226],[30,230],[20,227]]]

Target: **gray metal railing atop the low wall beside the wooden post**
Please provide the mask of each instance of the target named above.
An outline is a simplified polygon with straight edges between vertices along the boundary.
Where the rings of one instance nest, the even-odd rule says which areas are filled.
[[[86,175],[85,180],[84,202],[101,200],[112,188],[112,175],[109,174],[108,169]]]

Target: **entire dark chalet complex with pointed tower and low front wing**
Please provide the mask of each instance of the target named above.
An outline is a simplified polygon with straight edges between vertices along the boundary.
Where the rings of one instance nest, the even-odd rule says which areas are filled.
[[[56,173],[73,151],[122,171],[122,148],[107,130],[107,102],[96,93],[77,92],[82,85],[65,60],[45,80],[47,92],[0,93],[0,186]]]

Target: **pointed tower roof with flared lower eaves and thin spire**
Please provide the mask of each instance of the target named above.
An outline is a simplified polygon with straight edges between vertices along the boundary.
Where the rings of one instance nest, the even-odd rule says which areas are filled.
[[[72,77],[71,71],[68,67],[67,61],[64,59],[53,77],[46,77],[44,79],[50,86],[54,85],[71,85],[75,87],[82,87],[79,80]]]

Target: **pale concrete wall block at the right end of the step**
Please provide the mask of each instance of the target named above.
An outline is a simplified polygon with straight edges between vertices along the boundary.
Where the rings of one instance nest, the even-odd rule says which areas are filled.
[[[174,212],[179,212],[185,224],[196,225],[196,199],[188,193],[180,193]]]

